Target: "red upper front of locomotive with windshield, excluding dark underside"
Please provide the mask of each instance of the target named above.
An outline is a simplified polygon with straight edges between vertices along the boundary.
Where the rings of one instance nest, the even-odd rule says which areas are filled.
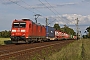
[[[14,22],[11,30],[12,36],[25,35],[26,22]]]

